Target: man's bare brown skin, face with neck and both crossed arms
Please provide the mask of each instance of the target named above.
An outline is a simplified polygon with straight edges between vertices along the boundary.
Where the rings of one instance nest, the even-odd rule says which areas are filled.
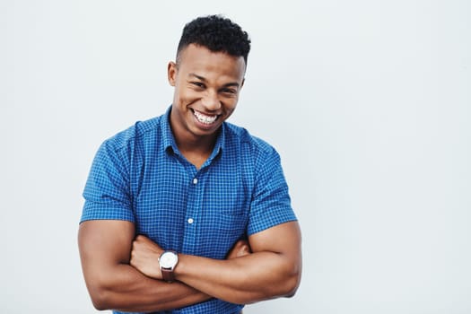
[[[244,83],[243,57],[189,45],[170,62],[175,87],[170,126],[179,150],[199,169],[231,116]],[[225,260],[179,254],[177,282],[161,281],[158,243],[135,237],[124,221],[83,222],[79,248],[85,282],[99,310],[170,310],[212,297],[248,304],[289,297],[301,281],[301,231],[285,222],[234,244]],[[251,249],[251,250],[250,250]]]

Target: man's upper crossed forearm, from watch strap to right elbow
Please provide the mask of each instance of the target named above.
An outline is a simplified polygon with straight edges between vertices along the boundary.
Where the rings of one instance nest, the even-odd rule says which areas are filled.
[[[238,304],[291,296],[301,266],[275,252],[257,252],[230,260],[181,255],[176,278],[215,298]]]

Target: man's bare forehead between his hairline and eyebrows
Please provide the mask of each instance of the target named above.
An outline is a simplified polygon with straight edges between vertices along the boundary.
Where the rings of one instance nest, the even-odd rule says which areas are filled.
[[[224,74],[234,78],[243,78],[245,60],[225,52],[214,52],[203,46],[188,45],[179,53],[179,70],[197,72],[196,74]]]

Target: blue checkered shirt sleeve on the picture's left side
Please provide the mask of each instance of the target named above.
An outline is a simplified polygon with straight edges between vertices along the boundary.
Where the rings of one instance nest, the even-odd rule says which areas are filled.
[[[126,149],[117,149],[111,140],[101,144],[83,190],[81,222],[100,219],[135,222],[128,159]]]

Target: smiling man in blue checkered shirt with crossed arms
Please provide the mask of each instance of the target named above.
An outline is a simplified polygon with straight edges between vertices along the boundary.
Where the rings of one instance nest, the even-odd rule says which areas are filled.
[[[100,146],[79,229],[98,310],[239,313],[297,290],[301,231],[279,155],[225,122],[249,48],[226,18],[189,22],[170,109]]]

